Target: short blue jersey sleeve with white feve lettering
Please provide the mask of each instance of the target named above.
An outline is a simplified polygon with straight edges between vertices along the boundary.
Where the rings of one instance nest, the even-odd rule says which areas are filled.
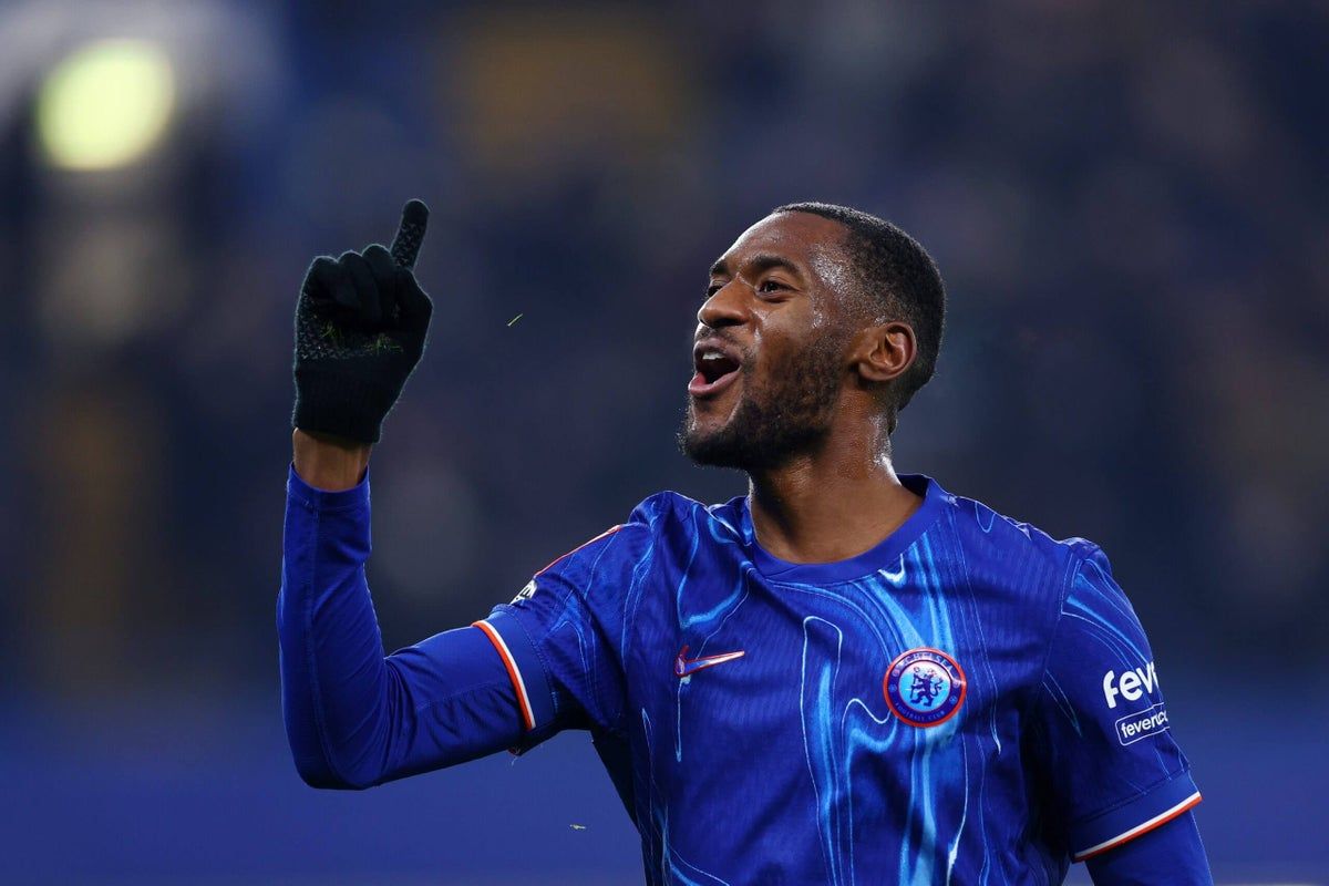
[[[1075,861],[1200,801],[1144,628],[1096,547],[1073,569],[1035,711],[1049,800]]]

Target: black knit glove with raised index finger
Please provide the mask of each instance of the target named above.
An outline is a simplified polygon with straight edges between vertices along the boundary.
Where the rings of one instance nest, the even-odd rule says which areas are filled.
[[[428,221],[411,201],[391,254],[375,243],[314,259],[295,306],[294,426],[379,442],[429,331],[433,304],[411,271]]]

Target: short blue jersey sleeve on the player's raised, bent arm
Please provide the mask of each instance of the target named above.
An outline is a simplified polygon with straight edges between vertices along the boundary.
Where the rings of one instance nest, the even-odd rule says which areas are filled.
[[[476,622],[517,691],[522,747],[565,728],[621,728],[630,611],[654,547],[653,502],[536,573],[512,603]]]

